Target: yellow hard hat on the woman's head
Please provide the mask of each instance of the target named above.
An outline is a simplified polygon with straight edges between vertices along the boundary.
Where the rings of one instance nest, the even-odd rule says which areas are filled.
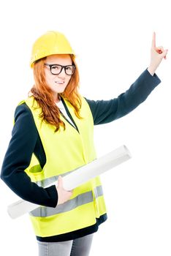
[[[73,54],[69,41],[66,39],[64,34],[58,31],[47,31],[34,42],[30,65],[33,67],[34,62],[38,59],[42,59],[46,56],[53,54]]]

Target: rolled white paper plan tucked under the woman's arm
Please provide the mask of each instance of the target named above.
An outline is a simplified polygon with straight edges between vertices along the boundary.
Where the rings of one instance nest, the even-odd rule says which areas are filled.
[[[72,190],[84,184],[86,181],[101,175],[107,170],[120,165],[122,162],[131,158],[131,154],[126,146],[120,146],[103,157],[95,159],[93,162],[83,165],[63,177],[64,189]],[[54,182],[53,182],[54,184]],[[56,183],[57,184],[57,181]],[[50,184],[52,185],[52,184]],[[18,218],[29,211],[38,208],[39,205],[30,203],[26,200],[18,200],[8,206],[7,212],[12,219]]]

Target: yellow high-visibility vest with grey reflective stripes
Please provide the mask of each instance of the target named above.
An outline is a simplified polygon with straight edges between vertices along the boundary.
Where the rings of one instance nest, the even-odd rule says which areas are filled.
[[[66,129],[60,127],[58,132],[51,124],[39,118],[41,108],[37,106],[34,97],[28,97],[26,102],[34,117],[34,122],[45,151],[46,163],[43,169],[37,157],[32,154],[30,165],[26,173],[31,181],[41,187],[56,181],[58,176],[64,176],[76,168],[88,164],[96,158],[94,149],[94,120],[86,99],[81,98],[82,107],[80,116],[75,116],[72,105],[64,99],[77,129],[72,127],[61,115]],[[20,102],[22,104],[23,102]],[[102,184],[99,177],[93,178],[86,184],[77,187],[72,197],[56,208],[40,206],[31,211],[30,217],[36,236],[57,236],[94,225],[96,218],[106,213]]]

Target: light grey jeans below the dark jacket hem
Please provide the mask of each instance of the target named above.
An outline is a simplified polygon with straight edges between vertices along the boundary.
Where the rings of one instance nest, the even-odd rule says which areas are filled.
[[[38,242],[39,256],[88,256],[93,234],[64,242]]]

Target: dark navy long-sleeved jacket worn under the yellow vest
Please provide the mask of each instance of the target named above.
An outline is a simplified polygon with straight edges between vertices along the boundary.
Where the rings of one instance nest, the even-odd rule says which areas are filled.
[[[106,124],[130,113],[140,103],[145,101],[148,95],[151,94],[151,91],[160,82],[156,74],[152,76],[145,69],[132,86],[117,98],[97,101],[86,99],[94,118],[94,125]],[[64,106],[66,108],[65,103]],[[72,118],[67,108],[66,111],[69,117]],[[43,167],[46,162],[45,151],[39,138],[37,127],[34,124],[31,110],[26,103],[23,103],[22,105],[18,105],[15,110],[15,125],[12,129],[12,138],[1,167],[1,179],[24,200],[37,203],[41,206],[56,207],[58,202],[56,186],[53,185],[48,188],[39,187],[34,182],[31,182],[31,179],[24,172],[30,163],[33,153],[39,159],[41,167]],[[103,221],[99,220],[99,224],[100,222]],[[86,234],[88,232],[86,230]],[[60,238],[60,236],[58,237]],[[69,238],[73,237],[75,238],[75,236],[69,236]],[[61,238],[61,241],[64,240],[69,239]]]

